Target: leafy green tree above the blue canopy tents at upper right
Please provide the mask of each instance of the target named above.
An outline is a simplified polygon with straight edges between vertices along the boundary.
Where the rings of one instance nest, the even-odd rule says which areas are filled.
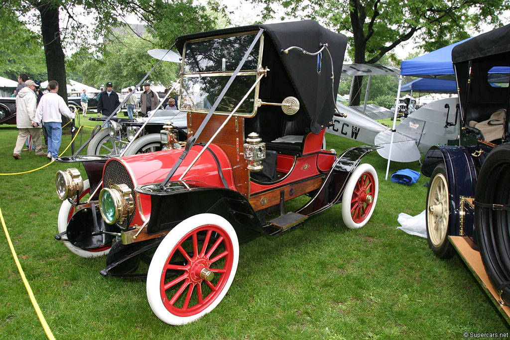
[[[262,19],[273,17],[281,5],[285,16],[311,18],[347,33],[354,63],[376,63],[400,43],[414,38],[425,51],[468,37],[481,24],[501,25],[498,16],[510,9],[509,0],[251,0],[265,5]],[[354,82],[360,93],[361,77]],[[353,101],[358,104],[360,97]]]

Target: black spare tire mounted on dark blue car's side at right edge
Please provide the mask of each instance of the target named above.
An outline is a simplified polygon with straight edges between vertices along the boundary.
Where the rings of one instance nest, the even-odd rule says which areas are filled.
[[[475,201],[510,204],[510,144],[497,146],[487,156],[476,182]],[[475,203],[475,231],[483,266],[502,299],[510,303],[510,212]]]

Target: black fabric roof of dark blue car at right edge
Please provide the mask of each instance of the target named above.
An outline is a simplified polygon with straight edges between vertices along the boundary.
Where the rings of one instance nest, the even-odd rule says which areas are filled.
[[[508,51],[510,51],[510,24],[456,45],[451,51],[451,59],[455,64]]]

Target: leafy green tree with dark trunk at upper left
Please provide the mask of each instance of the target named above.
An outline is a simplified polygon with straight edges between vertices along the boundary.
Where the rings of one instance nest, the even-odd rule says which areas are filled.
[[[0,0],[0,8],[41,28],[48,79],[59,84],[66,83],[64,47],[85,47],[100,54],[101,45],[96,42],[111,33],[112,27],[119,27],[128,14],[136,14],[149,30],[170,40],[172,36],[174,39],[213,26],[203,15],[208,7],[195,5],[192,0],[176,0],[171,4],[163,0]],[[81,20],[83,15],[93,17],[93,23],[88,25]],[[185,22],[177,21],[183,18]],[[65,27],[60,26],[61,22]],[[59,87],[59,94],[67,98],[65,86]]]

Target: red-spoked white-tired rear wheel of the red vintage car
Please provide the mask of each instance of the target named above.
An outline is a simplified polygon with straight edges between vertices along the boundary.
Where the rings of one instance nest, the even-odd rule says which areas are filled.
[[[370,164],[360,164],[351,174],[342,194],[342,220],[349,229],[363,227],[377,203],[379,181]]]

